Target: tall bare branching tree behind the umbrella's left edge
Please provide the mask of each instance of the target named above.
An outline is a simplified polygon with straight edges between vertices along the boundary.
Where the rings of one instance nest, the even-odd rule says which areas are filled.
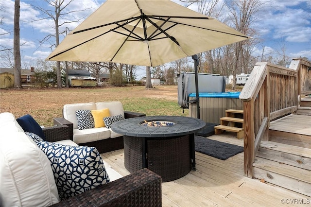
[[[59,35],[62,33],[66,33],[66,31],[60,32],[59,29],[61,26],[65,24],[69,24],[72,22],[78,22],[80,19],[67,19],[66,17],[69,17],[69,14],[74,13],[74,12],[81,12],[85,11],[86,9],[83,10],[74,10],[74,11],[66,11],[66,8],[69,6],[69,4],[73,0],[65,1],[65,0],[45,0],[47,4],[50,4],[54,10],[48,10],[39,6],[33,5],[37,10],[41,11],[43,14],[45,14],[47,17],[44,17],[42,19],[48,19],[52,18],[54,21],[54,28],[55,28],[55,34],[54,35],[48,35],[45,37],[42,41],[41,44],[44,42],[48,41],[51,37],[55,37],[55,46],[57,47],[59,45]],[[42,19],[37,19],[42,20]],[[62,22],[60,22],[60,19]],[[82,18],[81,18],[82,19]],[[52,46],[51,46],[52,47]],[[61,88],[62,87],[62,79],[61,79],[61,67],[60,67],[60,62],[56,61],[56,77],[57,77],[57,87]]]

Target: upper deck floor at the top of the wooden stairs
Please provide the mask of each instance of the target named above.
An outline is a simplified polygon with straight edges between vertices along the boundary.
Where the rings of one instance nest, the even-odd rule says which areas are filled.
[[[311,117],[291,114],[271,121],[269,129],[311,136]]]

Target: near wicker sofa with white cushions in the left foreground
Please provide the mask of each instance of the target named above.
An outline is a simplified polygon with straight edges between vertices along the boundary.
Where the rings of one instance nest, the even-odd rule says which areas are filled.
[[[43,128],[43,133],[49,142],[70,142],[67,125]],[[148,169],[142,169],[59,202],[58,195],[53,196],[55,192],[57,194],[57,189],[53,183],[55,181],[51,163],[49,160],[44,162],[43,158],[48,160],[35,142],[26,136],[14,115],[0,114],[2,207],[161,206],[161,177]]]

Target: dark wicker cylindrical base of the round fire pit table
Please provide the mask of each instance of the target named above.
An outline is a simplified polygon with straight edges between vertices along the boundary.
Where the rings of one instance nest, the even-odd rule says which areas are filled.
[[[125,168],[134,173],[146,167],[160,175],[162,182],[181,178],[191,171],[191,136],[169,138],[124,136]]]

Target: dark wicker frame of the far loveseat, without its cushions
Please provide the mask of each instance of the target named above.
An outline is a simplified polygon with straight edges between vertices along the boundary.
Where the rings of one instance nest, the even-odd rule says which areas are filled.
[[[145,114],[136,113],[136,112],[130,112],[130,111],[124,111],[124,118],[134,118],[134,117],[144,117]],[[69,126],[69,139],[73,140],[73,124],[64,119],[64,118],[54,118],[53,120],[54,125],[67,125]],[[84,146],[88,147],[96,147],[99,153],[106,153],[114,150],[119,150],[124,148],[123,144],[123,136],[117,137],[117,138],[106,138],[98,141],[91,141],[83,143]]]

